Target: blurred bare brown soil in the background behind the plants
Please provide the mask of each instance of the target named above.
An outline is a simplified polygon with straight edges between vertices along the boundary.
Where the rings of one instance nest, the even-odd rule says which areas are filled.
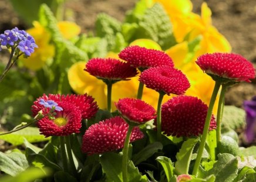
[[[191,0],[193,11],[200,13],[202,0]],[[256,63],[256,1],[255,0],[207,0],[213,12],[213,25],[227,37],[233,52],[242,54],[245,58]],[[72,0],[66,3],[71,9],[69,19],[75,20],[83,32],[92,31],[96,15],[106,12],[119,20],[123,20],[125,12],[132,9],[136,0]],[[0,32],[14,26],[26,28],[22,20],[14,13],[8,0],[0,0]],[[244,99],[256,95],[256,81],[252,84],[240,83],[230,88],[225,102],[228,105],[242,106]]]

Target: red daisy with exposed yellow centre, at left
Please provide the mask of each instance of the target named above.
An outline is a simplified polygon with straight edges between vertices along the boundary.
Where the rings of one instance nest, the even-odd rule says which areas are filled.
[[[68,136],[72,133],[79,133],[82,126],[82,115],[78,107],[69,102],[57,102],[63,111],[55,111],[55,119],[49,118],[49,108],[43,109],[44,118],[38,121],[39,131],[45,137]]]

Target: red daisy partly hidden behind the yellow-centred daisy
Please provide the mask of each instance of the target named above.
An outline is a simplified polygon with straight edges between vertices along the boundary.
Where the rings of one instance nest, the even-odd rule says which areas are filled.
[[[97,110],[99,109],[97,107],[97,102],[93,102],[94,98],[92,98],[90,95],[84,94],[84,95],[60,95],[60,94],[49,94],[48,96],[43,94],[42,97],[39,97],[36,99],[36,101],[32,105],[32,113],[33,116],[36,116],[39,111],[41,111],[44,106],[41,105],[40,99],[43,99],[45,101],[55,101],[55,102],[69,102],[70,104],[74,104],[76,107],[80,109],[80,112],[82,114],[82,119],[89,119],[93,115],[96,114]]]

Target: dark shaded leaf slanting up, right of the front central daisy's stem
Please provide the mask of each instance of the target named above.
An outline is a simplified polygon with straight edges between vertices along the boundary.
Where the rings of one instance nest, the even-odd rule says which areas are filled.
[[[132,161],[134,165],[137,166],[139,163],[149,159],[149,157],[151,157],[154,153],[158,152],[158,150],[161,149],[163,149],[163,145],[160,142],[150,143],[142,150],[140,150],[139,153],[134,154],[132,157]]]

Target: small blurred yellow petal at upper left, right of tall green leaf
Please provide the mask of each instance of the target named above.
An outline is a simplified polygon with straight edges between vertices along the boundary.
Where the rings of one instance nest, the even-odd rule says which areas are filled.
[[[78,36],[81,32],[80,26],[76,25],[74,22],[58,22],[58,28],[62,33],[62,36],[66,39],[71,39],[72,37]]]

